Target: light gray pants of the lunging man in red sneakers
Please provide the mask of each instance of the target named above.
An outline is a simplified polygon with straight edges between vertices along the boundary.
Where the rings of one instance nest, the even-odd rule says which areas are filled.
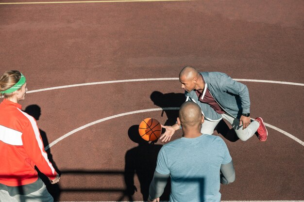
[[[224,113],[221,114],[221,117],[227,120],[232,125],[233,129],[236,131],[237,137],[242,141],[246,141],[251,138],[260,125],[257,121],[253,121],[248,125],[247,128],[243,130],[243,126],[239,126],[239,120],[234,118],[230,114]],[[202,124],[201,133],[212,135],[215,127],[217,126],[217,124],[219,124],[219,122],[220,120],[216,122],[211,122],[205,119],[204,123]]]

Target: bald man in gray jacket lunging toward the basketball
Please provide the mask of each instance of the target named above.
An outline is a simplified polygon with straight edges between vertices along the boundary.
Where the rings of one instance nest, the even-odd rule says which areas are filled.
[[[250,119],[250,99],[246,85],[220,72],[198,72],[191,66],[182,69],[179,81],[185,90],[186,101],[197,103],[204,116],[201,132],[213,134],[221,119],[227,120],[240,140],[246,141],[257,133],[266,141],[268,132],[261,117]],[[166,132],[160,140],[166,142],[180,129],[178,124],[162,125]]]

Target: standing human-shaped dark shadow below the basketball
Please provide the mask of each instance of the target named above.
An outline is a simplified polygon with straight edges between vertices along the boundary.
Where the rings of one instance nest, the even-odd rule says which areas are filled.
[[[157,155],[162,147],[162,145],[143,140],[138,133],[138,126],[139,125],[133,125],[128,130],[129,138],[135,143],[138,143],[137,147],[128,150],[125,155],[124,179],[127,189],[126,195],[129,201],[133,201],[132,196],[135,191],[137,191],[137,188],[134,186],[135,174],[140,183],[140,192],[143,196],[143,201],[148,200],[149,186],[156,168]],[[167,184],[161,201],[169,201],[169,190],[170,183]]]

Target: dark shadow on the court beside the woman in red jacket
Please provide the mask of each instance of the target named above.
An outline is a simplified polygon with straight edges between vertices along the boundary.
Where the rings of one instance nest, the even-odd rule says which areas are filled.
[[[41,115],[41,108],[38,105],[29,105],[25,108],[24,112],[28,113],[29,115],[33,116],[34,119],[36,121],[39,120],[40,115]],[[43,142],[44,146],[49,145],[49,140],[47,138],[47,134],[45,131],[41,130],[39,128],[39,133]],[[59,171],[58,167],[56,166],[55,161],[52,158],[51,155],[51,149],[49,148],[48,150],[46,150],[46,153],[48,155],[48,159],[50,160],[51,164],[53,165],[55,171],[61,175],[61,172]],[[59,201],[59,196],[60,196],[60,186],[58,183],[56,184],[51,184],[50,180],[47,176],[45,176],[42,172],[39,171],[39,169],[37,167],[35,167],[36,171],[38,172],[38,176],[41,178],[41,180],[44,182],[44,184],[47,186],[48,191],[50,192],[50,194],[52,195],[52,197],[54,198],[54,201]]]

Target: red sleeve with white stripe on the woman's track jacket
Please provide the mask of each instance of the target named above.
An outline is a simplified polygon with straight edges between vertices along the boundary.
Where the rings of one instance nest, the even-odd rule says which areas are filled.
[[[24,125],[22,141],[25,152],[29,156],[28,160],[34,162],[34,165],[37,166],[39,171],[53,180],[57,173],[44,150],[39,128],[33,117],[27,115],[27,118],[29,122]]]

